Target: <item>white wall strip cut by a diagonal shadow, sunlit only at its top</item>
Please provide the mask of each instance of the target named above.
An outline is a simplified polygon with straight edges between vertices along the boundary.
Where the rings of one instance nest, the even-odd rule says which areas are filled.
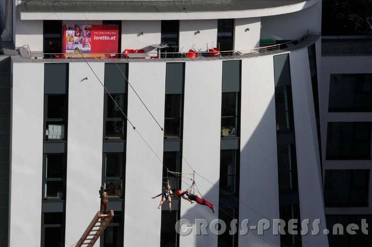
[[[242,60],[239,222],[279,218],[272,56]],[[239,246],[280,246],[272,228],[239,236]],[[269,243],[267,243],[269,242]]]

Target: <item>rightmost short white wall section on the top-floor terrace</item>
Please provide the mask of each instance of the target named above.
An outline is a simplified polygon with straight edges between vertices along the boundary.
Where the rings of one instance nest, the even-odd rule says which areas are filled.
[[[260,32],[261,18],[235,19],[234,50],[259,47]],[[249,51],[243,51],[243,53],[244,52]]]

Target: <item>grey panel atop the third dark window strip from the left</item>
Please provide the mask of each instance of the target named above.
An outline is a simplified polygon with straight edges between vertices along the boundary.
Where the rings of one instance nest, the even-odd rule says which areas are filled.
[[[165,75],[165,93],[183,93],[184,63],[167,63]]]

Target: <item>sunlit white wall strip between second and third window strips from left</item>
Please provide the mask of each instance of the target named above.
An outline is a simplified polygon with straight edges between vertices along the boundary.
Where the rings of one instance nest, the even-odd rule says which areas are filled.
[[[165,63],[130,63],[129,80],[160,125],[164,125]],[[128,90],[128,118],[156,155],[163,158],[163,132]],[[162,164],[128,123],[124,246],[160,244]]]

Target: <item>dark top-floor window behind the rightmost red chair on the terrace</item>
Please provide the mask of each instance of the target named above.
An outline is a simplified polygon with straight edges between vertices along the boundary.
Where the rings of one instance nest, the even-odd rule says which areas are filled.
[[[232,51],[234,40],[234,19],[221,19],[217,24],[217,48]]]

